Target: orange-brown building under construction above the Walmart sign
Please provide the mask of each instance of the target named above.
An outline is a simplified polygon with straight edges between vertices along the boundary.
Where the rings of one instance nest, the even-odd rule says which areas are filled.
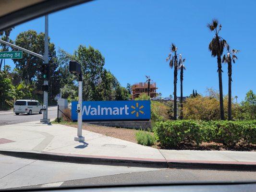
[[[136,83],[133,84],[133,99],[139,97],[142,94],[147,94],[147,83]],[[150,98],[157,96],[157,84],[151,83],[149,89]]]

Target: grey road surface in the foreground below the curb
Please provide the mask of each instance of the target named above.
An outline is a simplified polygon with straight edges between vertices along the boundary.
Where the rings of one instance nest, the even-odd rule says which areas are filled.
[[[253,171],[88,165],[2,155],[0,170],[0,189],[256,180]]]

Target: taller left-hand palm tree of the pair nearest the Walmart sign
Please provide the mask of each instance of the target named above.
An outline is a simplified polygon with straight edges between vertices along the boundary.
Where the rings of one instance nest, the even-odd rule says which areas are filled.
[[[169,53],[168,58],[166,58],[166,61],[170,60],[169,66],[174,66],[174,120],[177,120],[177,76],[178,76],[178,61],[177,61],[177,47],[172,43],[171,44],[171,53],[173,53],[173,56],[171,56],[171,53]]]

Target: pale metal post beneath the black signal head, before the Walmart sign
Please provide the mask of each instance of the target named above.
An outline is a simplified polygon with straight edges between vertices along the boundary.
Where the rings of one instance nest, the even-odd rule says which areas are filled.
[[[77,137],[74,137],[75,141],[85,141],[85,137],[82,136],[82,110],[83,110],[83,106],[82,106],[82,72],[79,75],[79,81],[78,81],[78,104],[80,104],[81,109],[78,112],[78,117],[77,117]]]

